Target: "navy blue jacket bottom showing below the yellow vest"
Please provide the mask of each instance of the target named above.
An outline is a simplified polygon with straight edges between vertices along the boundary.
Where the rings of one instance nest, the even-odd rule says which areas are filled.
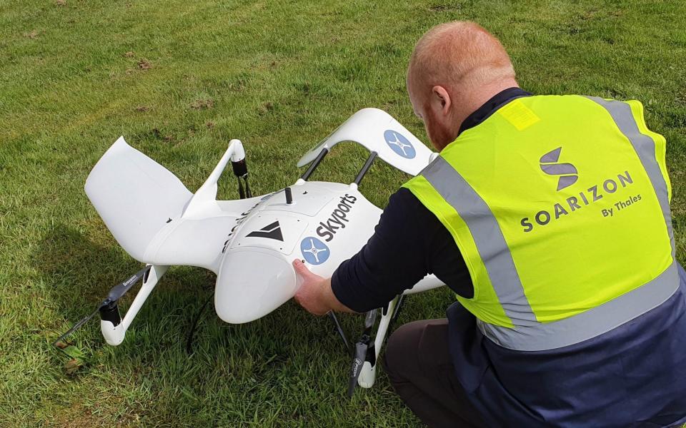
[[[522,353],[482,340],[489,367],[474,390],[477,407],[504,426],[686,422],[686,276],[680,274],[680,290],[665,304],[580,344]],[[451,337],[452,344],[463,340]]]

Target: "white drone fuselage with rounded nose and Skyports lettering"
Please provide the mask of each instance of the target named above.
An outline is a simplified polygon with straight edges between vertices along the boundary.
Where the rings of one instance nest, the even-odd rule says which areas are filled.
[[[332,275],[372,236],[382,212],[354,183],[298,180],[291,190],[292,203],[283,190],[252,198],[254,206],[226,231],[214,299],[222,320],[249,322],[289,300],[299,287],[295,259]]]

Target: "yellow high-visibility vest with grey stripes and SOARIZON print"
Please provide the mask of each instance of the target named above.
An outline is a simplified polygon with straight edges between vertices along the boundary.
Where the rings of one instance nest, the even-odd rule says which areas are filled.
[[[404,187],[451,233],[474,285],[457,300],[503,347],[573,345],[677,290],[665,138],[638,101],[515,98]]]

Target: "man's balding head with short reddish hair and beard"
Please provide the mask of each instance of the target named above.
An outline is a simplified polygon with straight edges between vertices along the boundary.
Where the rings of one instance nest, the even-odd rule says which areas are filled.
[[[503,89],[517,86],[515,69],[502,44],[478,24],[454,21],[427,31],[407,68],[414,113],[442,150],[467,116]]]

